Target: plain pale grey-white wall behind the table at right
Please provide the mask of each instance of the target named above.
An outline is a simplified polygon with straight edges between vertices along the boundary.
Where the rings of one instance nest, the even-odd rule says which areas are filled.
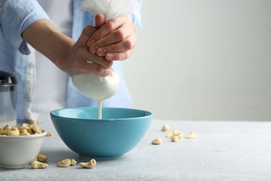
[[[124,61],[133,108],[156,119],[271,120],[270,0],[143,0]]]

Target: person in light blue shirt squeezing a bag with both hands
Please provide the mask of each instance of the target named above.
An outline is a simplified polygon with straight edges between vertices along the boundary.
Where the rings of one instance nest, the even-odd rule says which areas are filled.
[[[111,67],[120,74],[120,90],[103,105],[131,105],[121,62],[115,60],[131,56],[141,0],[132,15],[108,22],[103,15],[81,12],[82,1],[0,0],[0,70],[17,78],[19,122],[62,107],[97,106],[74,88],[70,76],[106,76]]]

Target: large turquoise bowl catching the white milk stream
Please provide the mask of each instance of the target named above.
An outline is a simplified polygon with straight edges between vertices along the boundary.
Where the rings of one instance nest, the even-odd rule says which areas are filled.
[[[51,111],[63,142],[81,157],[114,159],[132,150],[145,136],[153,114],[139,109],[76,107]]]

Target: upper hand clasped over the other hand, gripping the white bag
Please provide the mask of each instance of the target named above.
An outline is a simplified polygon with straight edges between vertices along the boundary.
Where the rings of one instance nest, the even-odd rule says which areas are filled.
[[[104,15],[97,14],[95,19],[99,29],[88,40],[90,52],[108,61],[129,58],[137,41],[136,24],[129,15],[105,22]]]

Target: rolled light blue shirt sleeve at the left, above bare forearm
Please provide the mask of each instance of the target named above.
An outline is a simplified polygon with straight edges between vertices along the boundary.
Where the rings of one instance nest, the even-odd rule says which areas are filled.
[[[29,54],[22,32],[39,19],[49,19],[35,0],[0,0],[0,33],[22,54]]]

